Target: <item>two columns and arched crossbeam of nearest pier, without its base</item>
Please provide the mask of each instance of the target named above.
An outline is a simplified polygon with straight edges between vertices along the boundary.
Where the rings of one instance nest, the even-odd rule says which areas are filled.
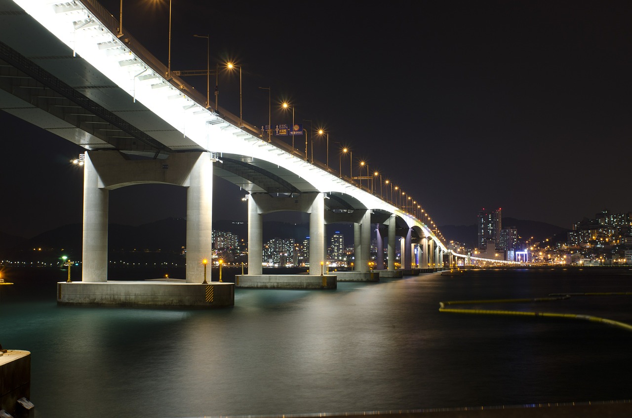
[[[186,282],[202,283],[202,260],[210,260],[212,231],[213,160],[207,152],[164,160],[128,160],[116,151],[85,153],[82,281],[107,282],[109,190],[143,183],[187,188]]]

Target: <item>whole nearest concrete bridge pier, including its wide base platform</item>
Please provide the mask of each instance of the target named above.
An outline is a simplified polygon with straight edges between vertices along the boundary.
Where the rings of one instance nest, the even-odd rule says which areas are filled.
[[[167,308],[234,305],[233,284],[202,284],[202,260],[211,257],[213,159],[210,153],[176,153],[163,159],[130,160],[117,151],[90,151],[85,153],[83,176],[83,277],[82,282],[58,283],[59,304]],[[187,188],[185,283],[107,280],[109,190],[143,183]]]

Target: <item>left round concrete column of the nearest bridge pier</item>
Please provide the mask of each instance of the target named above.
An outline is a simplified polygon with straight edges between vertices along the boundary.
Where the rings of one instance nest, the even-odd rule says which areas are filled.
[[[107,216],[109,191],[85,153],[83,165],[82,281],[107,282]]]

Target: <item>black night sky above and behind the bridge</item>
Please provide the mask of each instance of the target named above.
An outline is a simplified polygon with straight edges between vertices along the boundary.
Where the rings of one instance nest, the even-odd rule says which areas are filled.
[[[125,0],[123,25],[164,63],[168,2]],[[118,16],[118,0],[102,0]],[[291,121],[295,105],[336,142],[422,203],[437,225],[481,208],[570,227],[632,211],[632,3],[629,1],[289,2],[173,0],[172,69],[243,68],[243,117]],[[214,64],[212,64],[214,65]],[[205,92],[205,78],[188,81]],[[238,75],[219,104],[239,113]],[[0,231],[33,236],[82,219],[80,150],[0,114]],[[324,160],[324,142],[315,145]],[[347,164],[349,164],[347,160]],[[184,189],[111,193],[111,222],[185,215]],[[217,179],[214,218],[245,218]],[[449,238],[449,237],[448,237]]]

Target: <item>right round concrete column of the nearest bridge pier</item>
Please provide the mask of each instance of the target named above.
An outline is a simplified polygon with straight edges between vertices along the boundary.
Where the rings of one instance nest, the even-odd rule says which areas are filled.
[[[213,161],[201,153],[191,168],[186,189],[186,282],[204,281],[202,260],[212,257]],[[207,279],[208,280],[208,279]]]

